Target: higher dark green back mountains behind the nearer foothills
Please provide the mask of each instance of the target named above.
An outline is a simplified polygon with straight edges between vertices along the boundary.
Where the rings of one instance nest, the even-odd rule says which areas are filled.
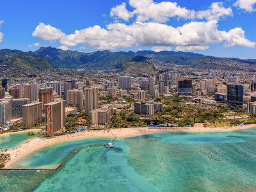
[[[145,56],[154,58],[167,63],[175,63],[177,65],[191,65],[194,61],[204,58],[202,54],[192,52],[174,52],[174,51],[138,51],[138,52],[78,52],[63,51],[52,47],[41,47],[36,54],[44,56],[51,61],[56,67],[85,67],[85,68],[118,68],[135,56]]]

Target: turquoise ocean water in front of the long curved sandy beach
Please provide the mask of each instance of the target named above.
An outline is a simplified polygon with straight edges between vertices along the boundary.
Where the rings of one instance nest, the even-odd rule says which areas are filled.
[[[77,147],[105,141],[60,143],[13,166],[56,166]],[[255,191],[256,128],[118,139],[112,149],[83,148],[58,172],[2,171],[0,178],[0,191]]]

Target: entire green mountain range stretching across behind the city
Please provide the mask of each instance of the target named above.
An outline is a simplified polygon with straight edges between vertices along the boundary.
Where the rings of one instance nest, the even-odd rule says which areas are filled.
[[[40,47],[35,52],[22,52],[20,50],[1,49],[0,65],[10,65],[20,68],[94,68],[111,69],[118,72],[122,68],[138,67],[147,71],[156,70],[150,65],[150,62],[134,60],[134,58],[148,58],[159,60],[163,63],[174,63],[176,65],[188,65],[188,67],[198,69],[222,69],[230,70],[250,70],[256,65],[256,60],[242,60],[239,58],[220,58],[215,56],[205,56],[193,52],[175,52],[175,51],[117,51],[108,50],[95,52],[64,51],[55,47]],[[132,62],[132,63],[131,63]],[[147,64],[147,65],[146,65]],[[164,65],[164,64],[163,64]],[[123,67],[122,67],[123,66]],[[130,70],[128,70],[130,71]],[[140,70],[138,70],[140,71]],[[143,72],[143,71],[141,71]]]

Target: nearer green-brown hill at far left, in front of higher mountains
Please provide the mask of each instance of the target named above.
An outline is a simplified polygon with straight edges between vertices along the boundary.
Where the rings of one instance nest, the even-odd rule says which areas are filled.
[[[0,65],[21,69],[52,68],[51,63],[43,56],[39,56],[33,52],[22,52],[10,49],[0,50]]]

